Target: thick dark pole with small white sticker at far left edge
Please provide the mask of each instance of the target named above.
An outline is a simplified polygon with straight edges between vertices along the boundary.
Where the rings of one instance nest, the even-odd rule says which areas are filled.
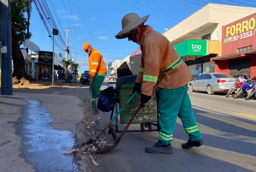
[[[1,95],[13,95],[11,2],[1,0]]]

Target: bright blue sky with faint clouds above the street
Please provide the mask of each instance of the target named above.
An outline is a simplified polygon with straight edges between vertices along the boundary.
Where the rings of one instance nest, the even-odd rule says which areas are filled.
[[[118,59],[123,59],[138,49],[138,45],[129,42],[128,39],[118,40],[115,35],[121,31],[122,17],[130,12],[137,13],[140,17],[150,15],[146,24],[152,26],[155,31],[165,32],[165,28],[171,28],[189,15],[193,14],[207,3],[225,5],[247,6],[256,8],[256,0],[45,0],[55,10],[50,10],[59,28],[59,32],[66,40],[66,29],[69,31],[69,44],[82,37],[70,46],[70,55],[80,64],[80,73],[88,70],[88,54],[82,51],[84,42],[98,49],[106,65]],[[190,1],[190,2],[189,2]],[[193,2],[193,3],[191,3]],[[51,6],[50,6],[51,7]],[[47,33],[38,12],[33,4],[30,20],[31,41],[37,44],[42,51],[52,51],[52,39]],[[60,35],[58,35],[60,36]],[[61,52],[65,56],[65,45],[59,49],[55,45],[55,52]],[[69,55],[69,59],[70,59]]]

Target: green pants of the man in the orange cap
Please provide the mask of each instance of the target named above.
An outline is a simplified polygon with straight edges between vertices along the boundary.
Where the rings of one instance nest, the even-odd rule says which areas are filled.
[[[96,74],[93,78],[93,82],[90,85],[92,87],[92,107],[96,107],[96,100],[99,98],[100,87],[105,79],[106,73]]]

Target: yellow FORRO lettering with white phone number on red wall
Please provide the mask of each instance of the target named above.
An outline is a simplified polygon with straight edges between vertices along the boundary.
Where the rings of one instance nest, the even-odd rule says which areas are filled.
[[[224,43],[241,40],[255,35],[255,17],[244,19],[241,22],[226,27]]]

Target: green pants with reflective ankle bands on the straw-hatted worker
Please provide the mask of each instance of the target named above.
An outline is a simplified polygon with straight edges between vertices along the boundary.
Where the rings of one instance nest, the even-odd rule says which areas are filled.
[[[177,117],[182,121],[183,127],[189,140],[201,139],[197,128],[191,102],[188,95],[187,85],[175,89],[163,89],[159,91],[159,140],[163,144],[169,144],[173,139]]]

